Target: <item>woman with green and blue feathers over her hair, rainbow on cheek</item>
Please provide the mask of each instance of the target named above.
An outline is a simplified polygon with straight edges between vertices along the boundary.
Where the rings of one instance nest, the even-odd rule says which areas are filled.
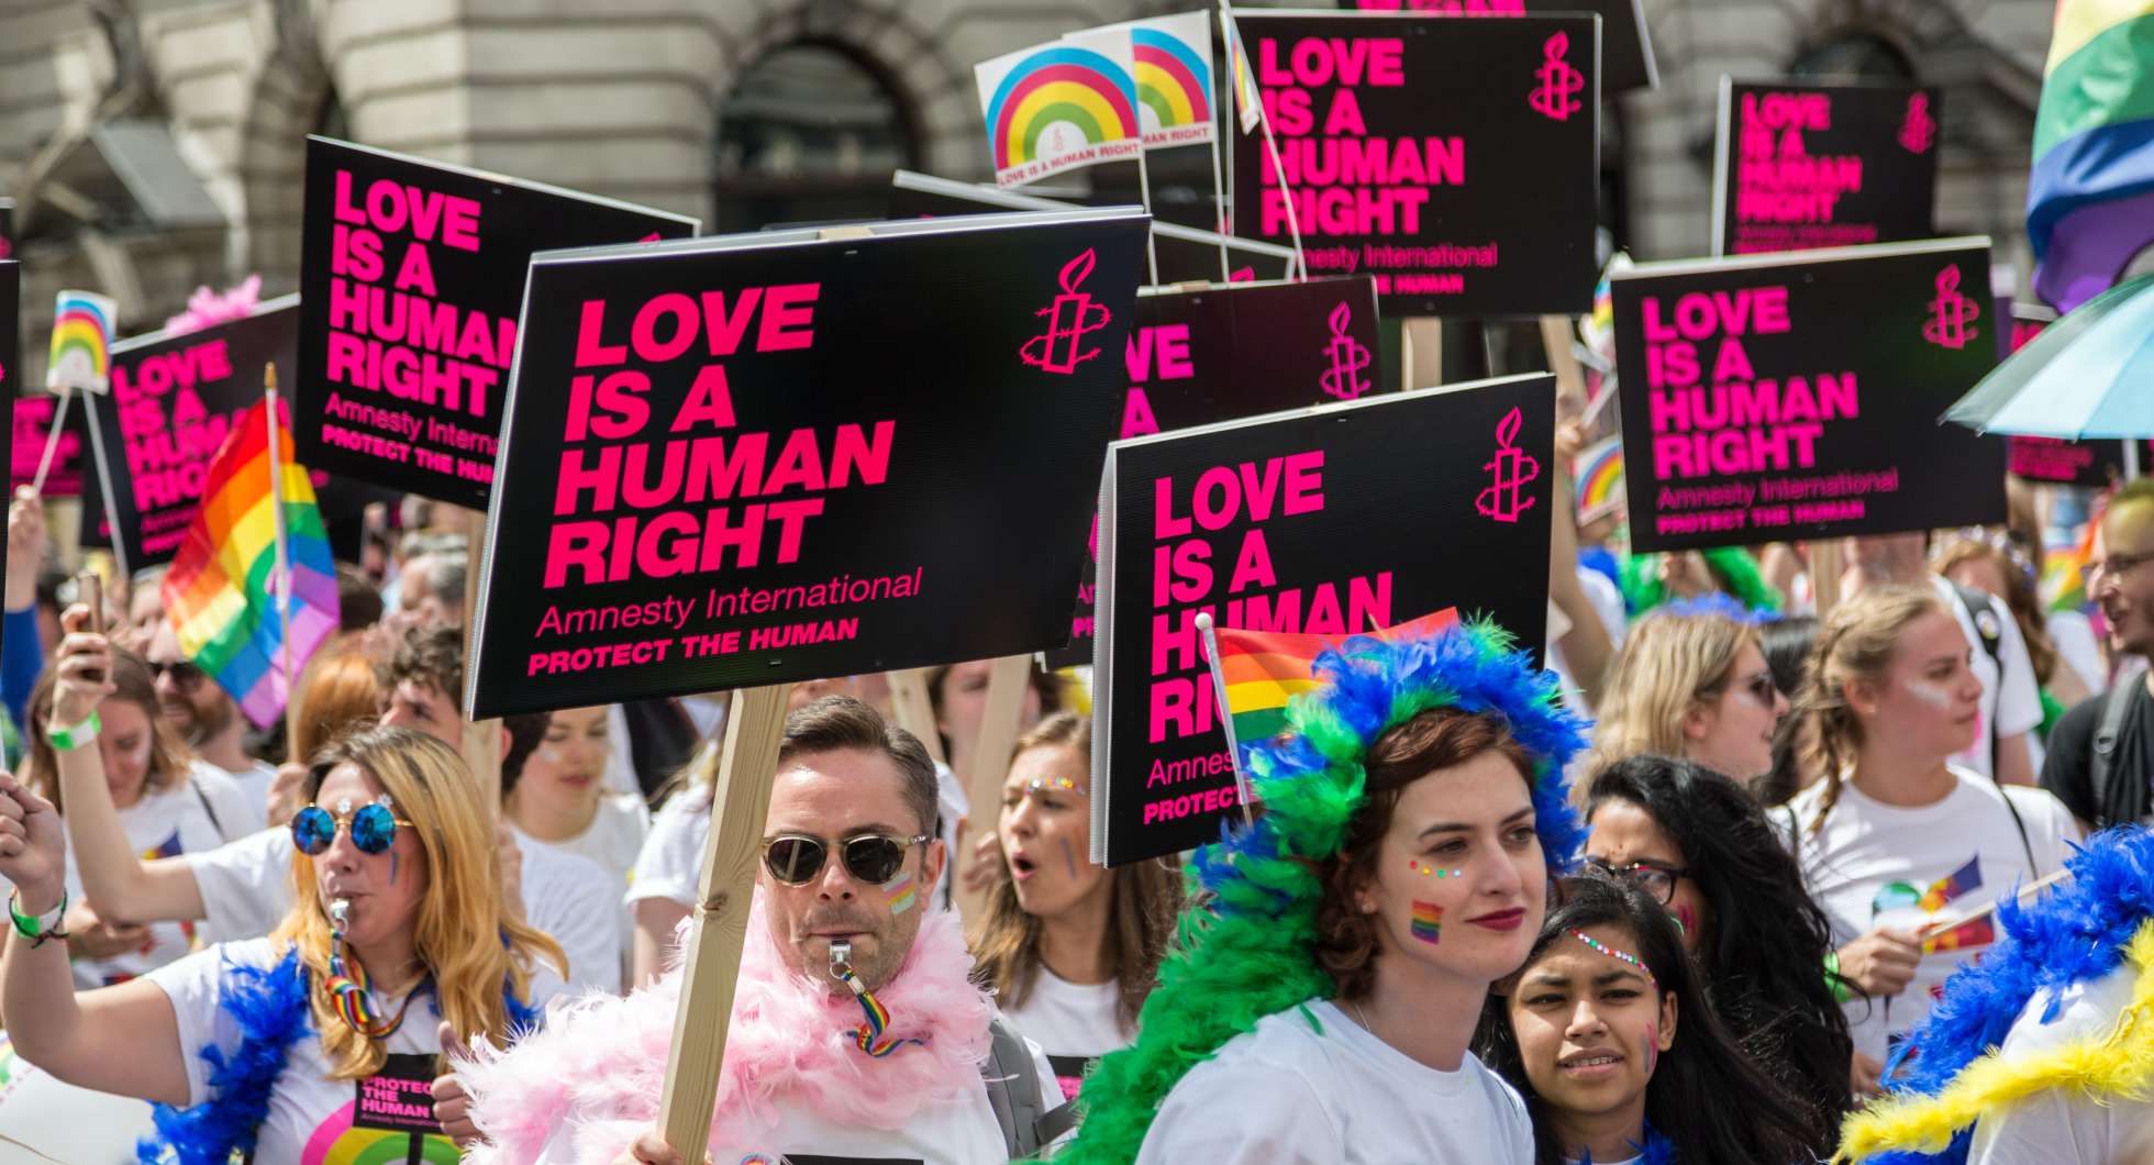
[[[1575,855],[1579,721],[1488,624],[1355,637],[1314,676],[1245,747],[1264,812],[1200,851],[1208,898],[1058,1165],[1531,1161],[1469,1044]]]

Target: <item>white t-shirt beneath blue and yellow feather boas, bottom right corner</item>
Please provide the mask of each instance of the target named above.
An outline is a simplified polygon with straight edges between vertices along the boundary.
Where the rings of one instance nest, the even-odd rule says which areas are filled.
[[[2038,991],[2005,1034],[1999,1059],[2012,1064],[2109,1036],[2132,999],[2137,978],[2137,967],[2124,963],[2094,982],[2068,988],[2064,1010],[2051,1023],[2042,1023],[2042,1012],[2055,995],[2051,988]],[[2154,1131],[2154,1100],[2113,1098],[2096,1105],[2083,1094],[2053,1087],[1982,1118],[1967,1163],[2107,1165],[2120,1161],[2135,1137],[2148,1131]]]

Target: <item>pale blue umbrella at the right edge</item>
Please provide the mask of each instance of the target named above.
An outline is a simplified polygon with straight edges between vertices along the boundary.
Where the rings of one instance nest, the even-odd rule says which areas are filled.
[[[2029,437],[2154,437],[2154,276],[2042,329],[1941,420]],[[2130,448],[2130,446],[2126,446]]]

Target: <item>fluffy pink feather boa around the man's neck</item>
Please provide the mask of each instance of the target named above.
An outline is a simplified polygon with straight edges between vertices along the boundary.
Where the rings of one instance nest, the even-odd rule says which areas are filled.
[[[971,954],[956,915],[931,911],[898,978],[877,993],[890,1008],[892,1036],[928,1042],[872,1059],[853,1044],[859,1003],[786,971],[758,892],[747,915],[711,1146],[754,1141],[775,1124],[778,1103],[838,1126],[903,1128],[928,1105],[967,1100],[980,1092],[995,1014],[993,999],[969,975]],[[679,997],[681,969],[674,967],[627,999],[592,993],[558,1006],[545,1031],[508,1051],[480,1047],[474,1059],[459,1062],[472,1120],[491,1141],[474,1146],[465,1161],[538,1161],[564,1122],[573,1128],[573,1154],[560,1165],[614,1161],[657,1122]]]

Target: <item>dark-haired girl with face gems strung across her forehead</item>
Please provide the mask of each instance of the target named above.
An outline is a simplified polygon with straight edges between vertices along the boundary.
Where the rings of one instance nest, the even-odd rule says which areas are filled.
[[[1534,1165],[1788,1165],[1803,1103],[1736,1047],[1661,902],[1568,879],[1475,1049],[1525,1094]]]

